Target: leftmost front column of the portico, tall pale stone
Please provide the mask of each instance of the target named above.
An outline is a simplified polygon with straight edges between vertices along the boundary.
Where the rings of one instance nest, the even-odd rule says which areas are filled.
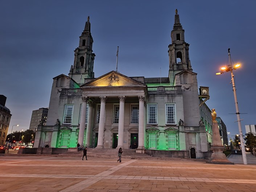
[[[87,101],[88,101],[88,97],[82,97],[82,112],[81,112],[79,134],[78,134],[78,143],[80,145],[83,145]]]

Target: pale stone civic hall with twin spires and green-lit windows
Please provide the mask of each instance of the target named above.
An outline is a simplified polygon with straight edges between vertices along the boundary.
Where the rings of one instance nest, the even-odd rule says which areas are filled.
[[[47,122],[38,125],[34,147],[71,148],[79,142],[102,150],[122,147],[150,155],[208,158],[199,110],[208,88],[200,87],[198,93],[178,13],[164,78],[117,71],[95,78],[90,28],[88,17],[68,76],[53,78]]]

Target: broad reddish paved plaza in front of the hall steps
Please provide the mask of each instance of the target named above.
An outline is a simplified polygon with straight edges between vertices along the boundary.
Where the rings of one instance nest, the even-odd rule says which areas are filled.
[[[0,156],[0,191],[256,191],[256,164],[87,158]]]

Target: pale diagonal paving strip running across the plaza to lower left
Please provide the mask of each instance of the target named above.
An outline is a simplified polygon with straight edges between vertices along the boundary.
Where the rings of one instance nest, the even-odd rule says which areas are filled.
[[[97,183],[98,181],[102,180],[102,175],[106,175],[104,178],[108,178],[108,175],[112,174],[113,172],[116,172],[117,170],[127,166],[128,164],[130,163],[133,163],[133,162],[136,162],[137,160],[130,160],[128,162],[125,162],[125,163],[122,163],[122,164],[119,164],[118,166],[116,167],[112,167],[111,169],[109,170],[106,170],[106,171],[103,171],[95,176],[93,176],[92,178],[90,179],[86,179],[86,180],[83,180],[83,181],[86,181],[85,184],[80,184],[81,182],[77,183],[77,184],[74,184],[70,187],[67,187],[66,189],[63,189],[62,191],[60,192],[79,192],[79,191],[82,191],[83,189],[89,187],[90,185],[93,185],[94,183]],[[112,178],[112,177],[111,177]],[[116,178],[115,178],[116,179]],[[84,183],[84,182],[83,182]]]

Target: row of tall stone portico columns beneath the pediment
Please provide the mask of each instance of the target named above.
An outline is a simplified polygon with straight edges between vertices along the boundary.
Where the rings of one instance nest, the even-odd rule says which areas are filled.
[[[125,96],[119,97],[119,124],[118,124],[118,143],[117,148],[124,147],[124,103]],[[144,121],[145,121],[145,96],[138,96],[139,98],[139,145],[138,149],[144,149]],[[99,117],[99,132],[98,132],[98,143],[96,148],[103,148],[104,142],[104,120],[105,120],[105,106],[106,106],[107,96],[100,96],[100,117]],[[82,97],[82,112],[80,118],[80,126],[79,126],[79,135],[78,142],[83,144],[84,139],[84,125],[86,121],[86,107],[88,103],[88,97]],[[88,108],[88,121],[87,121],[87,129],[86,129],[86,144],[90,145],[91,138],[91,128],[92,128],[92,112],[94,103],[89,102]]]

